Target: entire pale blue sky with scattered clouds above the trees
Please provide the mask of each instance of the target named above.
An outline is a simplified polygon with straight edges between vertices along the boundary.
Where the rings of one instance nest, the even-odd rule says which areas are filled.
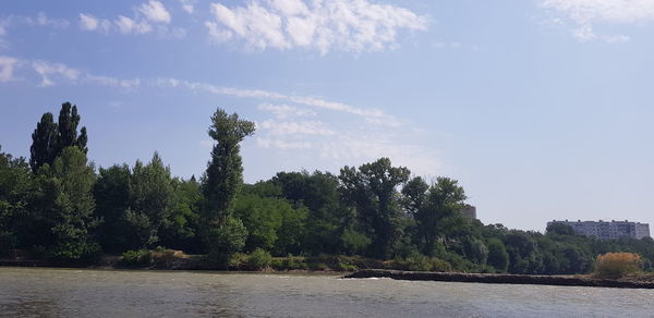
[[[96,167],[201,175],[217,108],[244,178],[388,157],[484,223],[654,223],[654,0],[0,3],[0,145],[77,105]]]

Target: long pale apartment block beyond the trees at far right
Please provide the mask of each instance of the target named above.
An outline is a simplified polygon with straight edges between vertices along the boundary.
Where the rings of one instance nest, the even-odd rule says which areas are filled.
[[[553,223],[561,223],[569,225],[574,230],[576,233],[586,235],[586,236],[595,236],[600,240],[615,240],[621,237],[631,237],[631,238],[643,238],[645,236],[650,236],[650,224],[641,223],[641,222],[629,222],[625,221],[615,221],[611,220],[603,221],[557,221],[554,220],[552,222],[547,222],[547,227]]]

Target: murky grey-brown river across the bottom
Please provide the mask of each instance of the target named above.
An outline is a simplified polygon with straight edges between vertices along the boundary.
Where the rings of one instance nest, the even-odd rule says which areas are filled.
[[[0,268],[5,317],[652,317],[653,290]]]

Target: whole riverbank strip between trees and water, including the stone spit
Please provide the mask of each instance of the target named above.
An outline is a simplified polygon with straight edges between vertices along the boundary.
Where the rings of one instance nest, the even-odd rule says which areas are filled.
[[[235,270],[253,272],[340,272],[346,279],[390,278],[408,281],[443,281],[471,282],[488,284],[532,284],[556,286],[593,286],[615,289],[654,289],[654,274],[630,274],[620,279],[597,279],[592,276],[531,276],[502,273],[464,273],[464,272],[433,272],[407,271],[395,269],[360,269],[351,270],[350,262],[370,262],[370,259],[343,256],[323,257],[276,257],[271,266],[263,269],[243,266],[229,269],[217,268],[202,255],[183,255],[170,258],[156,257],[152,262],[142,266],[124,266],[121,257],[106,255],[99,262],[92,266],[75,266],[57,261],[34,259],[0,259],[0,266],[7,267],[55,267],[55,268],[89,268],[89,269],[137,269],[137,270]],[[367,264],[368,266],[390,266]],[[363,264],[360,264],[363,265]]]

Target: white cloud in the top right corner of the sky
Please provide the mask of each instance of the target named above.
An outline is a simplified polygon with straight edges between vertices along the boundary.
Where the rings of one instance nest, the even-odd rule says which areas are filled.
[[[598,35],[595,26],[633,25],[654,22],[653,0],[541,0],[545,9],[564,14],[576,24],[572,35],[581,40],[604,40],[622,42],[629,40],[626,35]],[[559,21],[560,25],[565,22]]]

